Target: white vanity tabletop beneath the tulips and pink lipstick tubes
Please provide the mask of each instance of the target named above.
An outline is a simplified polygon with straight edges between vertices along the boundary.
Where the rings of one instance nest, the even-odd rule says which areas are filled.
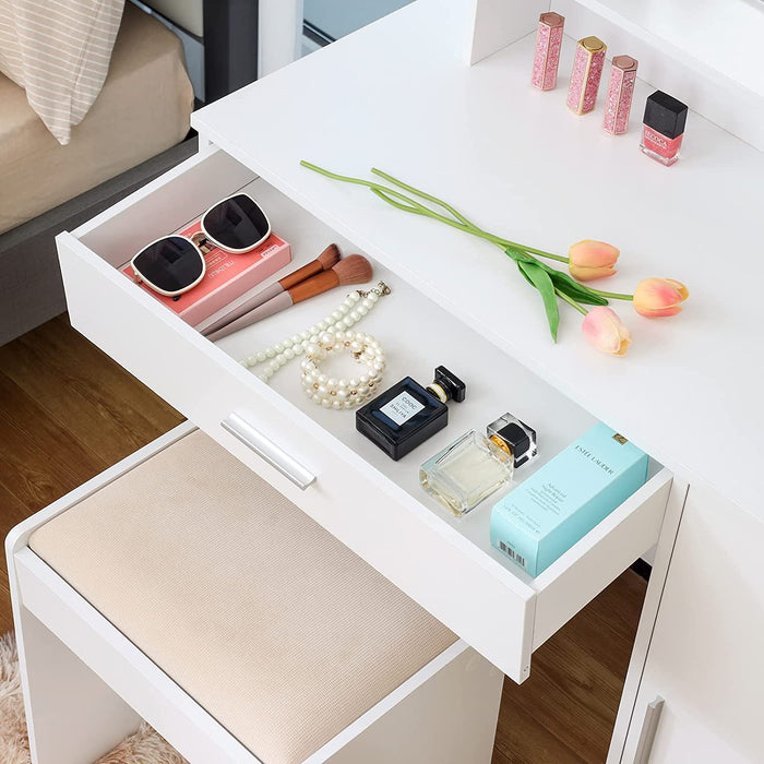
[[[564,105],[572,40],[557,89],[541,93],[528,82],[533,35],[468,68],[462,23],[420,0],[195,112],[192,124],[679,476],[764,520],[764,155],[691,112],[682,158],[662,167],[638,150],[654,87],[637,83],[629,133],[608,135],[609,67],[597,111],[576,117]],[[315,175],[302,158],[369,179],[377,166],[541,249],[610,241],[619,273],[594,286],[630,291],[667,276],[690,299],[658,320],[613,303],[633,334],[625,358],[589,347],[581,315],[561,305],[553,345],[538,294],[498,248]]]

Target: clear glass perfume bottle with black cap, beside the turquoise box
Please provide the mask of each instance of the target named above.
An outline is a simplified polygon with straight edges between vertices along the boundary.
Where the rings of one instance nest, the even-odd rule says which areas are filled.
[[[536,431],[511,414],[491,422],[488,435],[475,430],[425,462],[421,487],[455,515],[464,515],[510,482],[514,468],[536,453]]]

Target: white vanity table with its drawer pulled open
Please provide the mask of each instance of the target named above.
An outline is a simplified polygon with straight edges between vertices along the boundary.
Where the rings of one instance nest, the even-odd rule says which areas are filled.
[[[469,68],[463,27],[462,9],[420,0],[196,112],[196,157],[60,236],[72,324],[515,681],[532,670],[533,649],[658,544],[609,760],[635,761],[656,695],[665,706],[652,762],[761,759],[754,289],[764,266],[753,249],[764,156],[691,114],[684,158],[664,168],[638,151],[650,85],[637,83],[630,132],[613,138],[601,111],[565,109],[573,41],[561,84],[539,93],[528,84],[533,35]],[[690,301],[657,321],[612,306],[633,333],[624,359],[590,349],[581,317],[564,309],[554,346],[537,294],[499,249],[310,172],[302,158],[359,177],[377,166],[489,230],[551,251],[610,241],[621,265],[604,288],[669,276],[688,284]],[[373,261],[393,294],[361,327],[387,351],[383,384],[453,368],[468,393],[451,406],[446,430],[394,463],[355,431],[354,413],[305,398],[297,362],[270,386],[237,363],[323,317],[337,293],[213,345],[117,271],[240,188],[262,203],[297,264],[330,241]],[[595,419],[653,457],[647,485],[536,578],[490,547],[490,501],[457,521],[417,484],[422,461],[504,410],[538,430],[534,468]],[[271,463],[231,425],[244,441],[248,430],[262,437]],[[283,454],[315,482],[296,486]],[[695,589],[695,580],[708,586]],[[718,716],[706,702],[713,692],[728,693]]]

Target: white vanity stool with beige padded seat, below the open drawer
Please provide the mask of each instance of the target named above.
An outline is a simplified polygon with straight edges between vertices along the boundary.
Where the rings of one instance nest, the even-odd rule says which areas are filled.
[[[36,764],[488,764],[503,676],[181,425],[7,541]]]

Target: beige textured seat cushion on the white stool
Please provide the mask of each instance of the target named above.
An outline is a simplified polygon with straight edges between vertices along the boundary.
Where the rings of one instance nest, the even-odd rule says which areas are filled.
[[[303,761],[456,641],[199,431],[29,546],[265,764]]]

